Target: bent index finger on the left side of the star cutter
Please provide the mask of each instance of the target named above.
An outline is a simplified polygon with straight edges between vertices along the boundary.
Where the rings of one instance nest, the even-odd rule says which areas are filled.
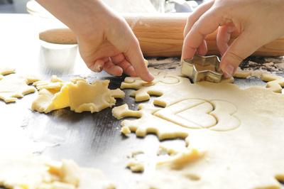
[[[182,59],[192,58],[206,36],[216,31],[219,23],[223,23],[222,20],[222,12],[217,9],[210,9],[204,13],[185,37],[182,46]]]

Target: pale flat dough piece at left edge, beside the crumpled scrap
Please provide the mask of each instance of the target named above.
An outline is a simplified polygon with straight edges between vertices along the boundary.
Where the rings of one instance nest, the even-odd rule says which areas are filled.
[[[35,92],[35,88],[28,86],[30,81],[26,77],[9,75],[0,80],[0,99],[4,102],[16,102],[18,98]]]

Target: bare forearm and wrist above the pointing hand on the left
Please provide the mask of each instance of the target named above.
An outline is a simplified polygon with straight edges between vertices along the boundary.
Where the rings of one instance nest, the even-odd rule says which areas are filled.
[[[88,38],[96,31],[107,28],[115,15],[101,0],[37,0],[78,37]]]

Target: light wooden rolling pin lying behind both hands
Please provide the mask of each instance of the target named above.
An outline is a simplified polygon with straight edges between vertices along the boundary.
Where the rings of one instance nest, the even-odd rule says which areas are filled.
[[[175,57],[182,52],[183,29],[188,14],[126,15],[126,21],[135,33],[146,57]],[[233,33],[231,41],[238,36]],[[219,55],[216,44],[217,31],[207,36],[208,55]],[[40,33],[39,38],[48,43],[76,44],[76,36],[68,28],[58,28]],[[284,55],[284,37],[263,45],[253,55]]]

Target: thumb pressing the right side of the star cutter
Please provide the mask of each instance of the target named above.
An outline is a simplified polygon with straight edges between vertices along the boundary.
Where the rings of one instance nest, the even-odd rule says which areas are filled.
[[[220,67],[224,72],[224,76],[231,77],[234,75],[239,64],[260,48],[261,45],[257,36],[251,36],[245,32],[241,33],[222,56]]]

